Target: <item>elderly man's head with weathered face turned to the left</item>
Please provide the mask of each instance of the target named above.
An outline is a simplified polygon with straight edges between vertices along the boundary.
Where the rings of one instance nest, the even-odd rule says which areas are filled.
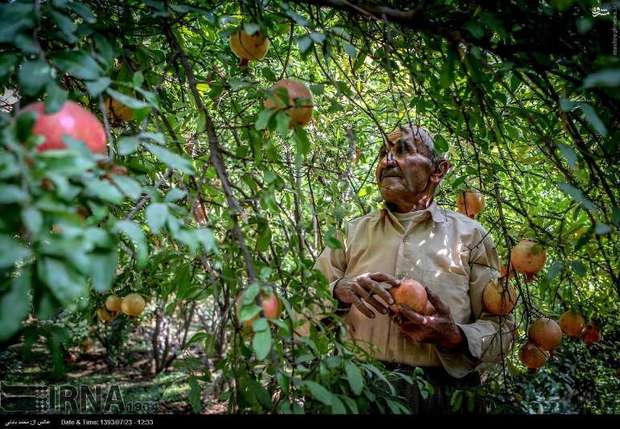
[[[375,171],[383,199],[399,208],[432,192],[445,174],[444,168],[435,168],[430,149],[414,130],[403,129],[399,139],[381,150]]]

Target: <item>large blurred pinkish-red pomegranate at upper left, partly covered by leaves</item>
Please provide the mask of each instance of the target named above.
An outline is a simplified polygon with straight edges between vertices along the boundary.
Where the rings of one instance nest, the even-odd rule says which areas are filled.
[[[78,103],[67,101],[53,114],[45,113],[42,102],[29,104],[24,111],[37,113],[32,129],[33,134],[42,136],[45,141],[37,146],[39,152],[64,149],[63,136],[68,135],[83,141],[93,153],[106,154],[105,130],[99,119]]]

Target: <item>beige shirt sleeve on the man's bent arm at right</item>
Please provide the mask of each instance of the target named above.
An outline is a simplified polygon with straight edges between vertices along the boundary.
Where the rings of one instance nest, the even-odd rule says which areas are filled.
[[[485,287],[489,283],[500,281],[497,249],[482,228],[476,229],[474,234],[469,263],[472,320],[471,323],[457,323],[467,344],[464,345],[464,350],[456,353],[438,351],[446,371],[457,378],[464,377],[484,364],[500,362],[514,342],[515,325],[512,315],[491,315],[485,311],[482,302]]]

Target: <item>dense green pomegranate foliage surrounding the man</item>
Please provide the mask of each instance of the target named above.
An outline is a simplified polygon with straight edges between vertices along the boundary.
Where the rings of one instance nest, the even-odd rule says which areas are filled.
[[[387,372],[343,341],[340,322],[313,323],[308,337],[293,332],[296,315],[331,298],[312,269],[319,252],[340,245],[345,219],[378,206],[372,174],[386,134],[415,122],[451,159],[440,205],[454,208],[458,191],[479,189],[487,204],[478,220],[504,258],[525,237],[547,249],[543,273],[514,280],[520,336],[532,318],[575,308],[604,328],[592,350],[613,354],[620,61],[612,15],[593,16],[588,0],[388,3],[362,4],[366,14],[331,1],[0,5],[0,88],[17,97],[0,116],[0,341],[42,335],[61,362],[62,338],[77,323],[61,310],[95,324],[108,294],[138,292],[168,316],[188,303],[208,315],[179,346],[201,345],[213,360],[186,368],[195,411],[212,371],[230,387],[222,393],[229,411],[364,412],[372,402],[402,411]],[[228,47],[240,26],[271,41],[265,59],[247,67]],[[312,91],[306,128],[290,130],[285,111],[263,107],[283,77]],[[107,112],[110,97],[132,119]],[[53,112],[66,99],[104,122],[108,157],[68,139],[67,150],[37,152],[34,118],[21,109],[43,100]],[[278,292],[286,311],[255,320],[250,339],[235,299],[260,287]],[[251,298],[246,305],[248,319],[260,311]],[[537,377],[512,376],[521,396],[510,396],[511,376],[502,377],[493,385],[499,402],[572,410],[537,408],[532,396],[571,385],[560,377],[564,365],[575,380],[617,387],[592,352],[563,347]],[[617,411],[606,389],[590,390],[592,407],[576,409]]]

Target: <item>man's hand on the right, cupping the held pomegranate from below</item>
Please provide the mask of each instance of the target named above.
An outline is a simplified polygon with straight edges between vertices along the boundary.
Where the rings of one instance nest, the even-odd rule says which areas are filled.
[[[401,332],[415,342],[436,344],[442,349],[453,350],[461,346],[465,338],[454,323],[450,308],[428,287],[426,294],[436,312],[423,316],[407,305],[398,305],[399,314],[395,321],[400,325]]]

